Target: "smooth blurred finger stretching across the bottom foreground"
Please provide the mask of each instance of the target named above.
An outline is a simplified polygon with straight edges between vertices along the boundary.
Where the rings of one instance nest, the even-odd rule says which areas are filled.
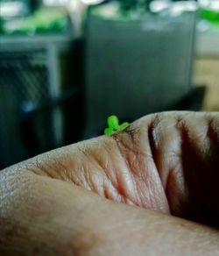
[[[0,173],[1,255],[216,255],[217,231],[25,169]]]

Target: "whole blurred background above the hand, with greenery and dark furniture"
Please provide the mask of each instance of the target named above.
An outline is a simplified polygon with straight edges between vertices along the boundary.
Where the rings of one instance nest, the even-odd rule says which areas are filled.
[[[0,168],[164,110],[219,110],[219,1],[0,1]]]

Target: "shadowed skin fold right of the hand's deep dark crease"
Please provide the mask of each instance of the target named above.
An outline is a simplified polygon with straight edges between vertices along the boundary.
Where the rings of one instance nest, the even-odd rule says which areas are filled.
[[[219,226],[219,113],[164,113],[148,134],[171,212]]]

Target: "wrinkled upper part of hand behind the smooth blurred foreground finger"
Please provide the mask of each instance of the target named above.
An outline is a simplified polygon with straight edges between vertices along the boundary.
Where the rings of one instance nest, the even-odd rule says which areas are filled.
[[[21,167],[114,201],[217,224],[218,141],[218,113],[166,112]]]

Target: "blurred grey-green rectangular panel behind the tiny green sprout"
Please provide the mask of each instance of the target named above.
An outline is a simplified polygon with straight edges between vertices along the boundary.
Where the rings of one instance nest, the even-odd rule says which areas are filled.
[[[110,21],[88,16],[87,134],[117,114],[133,120],[166,110],[187,95],[194,54],[195,13]]]

